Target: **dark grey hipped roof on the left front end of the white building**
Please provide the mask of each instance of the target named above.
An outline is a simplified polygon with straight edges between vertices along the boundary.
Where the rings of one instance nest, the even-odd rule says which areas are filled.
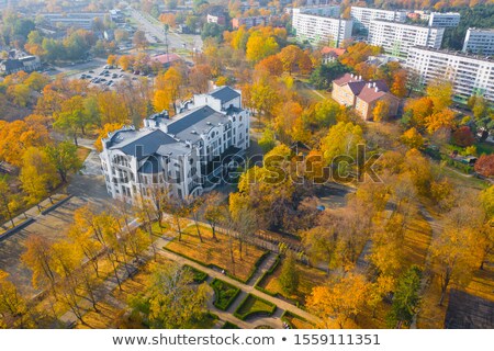
[[[112,136],[112,141],[113,145],[110,148],[120,149],[137,159],[155,154],[162,145],[177,143],[176,139],[160,129],[120,132]]]

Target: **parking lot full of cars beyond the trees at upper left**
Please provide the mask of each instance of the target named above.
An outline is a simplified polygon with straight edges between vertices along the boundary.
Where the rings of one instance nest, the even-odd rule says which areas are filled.
[[[92,87],[111,89],[122,80],[137,80],[139,77],[149,78],[150,75],[143,75],[139,71],[125,71],[114,66],[104,65],[103,67],[81,72],[75,78],[88,80]]]

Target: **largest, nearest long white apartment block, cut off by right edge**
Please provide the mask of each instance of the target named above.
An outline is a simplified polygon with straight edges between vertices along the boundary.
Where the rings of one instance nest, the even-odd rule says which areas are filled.
[[[435,79],[451,81],[457,101],[465,102],[472,95],[483,95],[494,102],[494,59],[430,47],[412,47],[406,67],[417,72],[423,83]]]

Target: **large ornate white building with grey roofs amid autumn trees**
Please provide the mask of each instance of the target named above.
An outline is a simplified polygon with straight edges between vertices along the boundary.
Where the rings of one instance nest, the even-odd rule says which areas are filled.
[[[236,157],[249,146],[249,112],[239,91],[222,87],[194,95],[179,112],[151,115],[141,131],[124,127],[102,140],[102,170],[114,199],[138,203],[155,189],[194,196],[238,166]]]

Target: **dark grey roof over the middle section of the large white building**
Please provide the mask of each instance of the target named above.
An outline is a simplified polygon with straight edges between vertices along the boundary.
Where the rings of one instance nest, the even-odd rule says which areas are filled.
[[[168,133],[181,140],[195,143],[200,139],[201,134],[207,133],[213,126],[226,122],[228,122],[228,118],[224,114],[204,105],[171,120],[168,124]]]

